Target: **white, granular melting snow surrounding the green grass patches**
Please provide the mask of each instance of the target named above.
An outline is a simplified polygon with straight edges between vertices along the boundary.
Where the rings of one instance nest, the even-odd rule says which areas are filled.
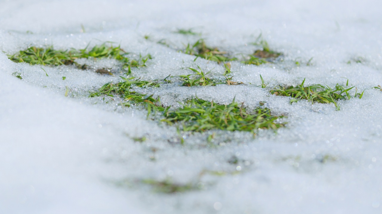
[[[380,8],[377,0],[1,1],[0,213],[381,213],[382,93],[373,88],[382,85]],[[203,38],[241,57],[260,34],[282,59],[231,62],[241,85],[181,86],[177,75],[192,73],[185,67],[213,69],[210,77],[225,70],[181,53],[186,44]],[[7,57],[29,46],[107,41],[131,58],[151,54],[131,77],[172,76],[172,84],[137,89],[166,106],[195,95],[249,109],[262,102],[287,124],[255,137],[180,132],[117,97],[89,97],[121,81],[121,73],[94,72],[114,72],[115,60],[81,59],[91,68],[81,70]],[[336,111],[269,93],[304,78],[329,87],[347,78],[364,94],[338,101]]]

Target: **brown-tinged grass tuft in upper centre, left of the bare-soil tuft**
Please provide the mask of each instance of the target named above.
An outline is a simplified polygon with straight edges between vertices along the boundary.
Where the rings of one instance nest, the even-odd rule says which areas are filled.
[[[196,56],[195,60],[198,57],[218,63],[236,60],[234,57],[228,57],[225,51],[219,51],[218,48],[207,46],[204,39],[197,40],[193,45],[188,43],[183,53]]]

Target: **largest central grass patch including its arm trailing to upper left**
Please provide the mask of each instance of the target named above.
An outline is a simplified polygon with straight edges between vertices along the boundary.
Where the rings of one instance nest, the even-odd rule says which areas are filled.
[[[200,69],[200,68],[199,68]],[[212,129],[227,131],[249,131],[256,133],[258,129],[276,130],[283,127],[284,123],[276,120],[283,116],[271,115],[267,108],[256,107],[253,112],[247,110],[238,103],[231,102],[228,105],[214,104],[213,101],[205,101],[199,98],[185,101],[181,108],[171,109],[160,103],[160,99],[153,95],[142,94],[134,91],[133,86],[148,87],[159,86],[159,83],[143,81],[134,77],[121,77],[124,81],[119,83],[106,83],[97,92],[93,92],[89,97],[95,96],[121,96],[124,101],[122,105],[130,107],[139,105],[147,109],[147,118],[151,113],[160,113],[162,122],[168,125],[176,125],[183,131],[204,132]]]

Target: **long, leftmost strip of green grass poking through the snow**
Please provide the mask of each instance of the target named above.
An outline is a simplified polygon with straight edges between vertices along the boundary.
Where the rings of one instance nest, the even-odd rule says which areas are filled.
[[[86,65],[79,65],[74,60],[79,58],[109,58],[116,59],[122,62],[122,69],[128,70],[131,73],[131,67],[146,66],[146,61],[152,59],[150,54],[141,56],[139,59],[129,59],[129,53],[124,51],[120,46],[114,47],[113,45],[95,45],[90,50],[86,48],[75,50],[55,50],[53,46],[46,48],[38,48],[35,46],[29,47],[26,50],[19,51],[16,54],[8,55],[8,58],[13,62],[26,62],[31,65],[77,65],[78,68],[86,69]]]

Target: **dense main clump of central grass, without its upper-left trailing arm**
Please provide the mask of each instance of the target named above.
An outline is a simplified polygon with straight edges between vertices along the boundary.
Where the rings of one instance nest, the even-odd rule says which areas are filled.
[[[282,116],[273,116],[267,108],[257,107],[253,112],[247,112],[238,103],[228,105],[214,104],[202,99],[186,101],[183,108],[164,112],[169,125],[180,123],[183,131],[203,132],[211,129],[227,131],[249,131],[256,133],[257,129],[274,129],[283,127],[283,123],[275,120]]]

